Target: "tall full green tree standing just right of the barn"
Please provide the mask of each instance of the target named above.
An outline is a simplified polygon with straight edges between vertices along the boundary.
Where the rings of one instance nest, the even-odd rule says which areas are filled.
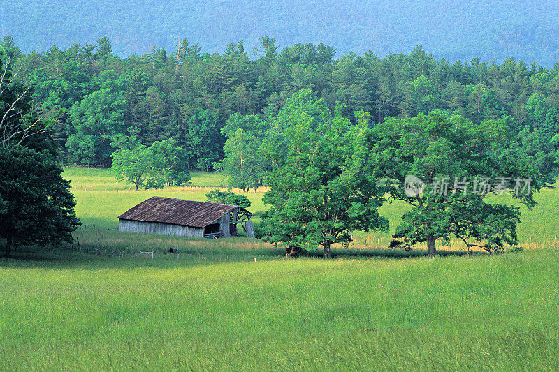
[[[358,124],[330,112],[310,89],[293,95],[275,119],[266,152],[273,171],[264,195],[269,211],[259,234],[286,246],[288,256],[304,248],[351,241],[354,230],[388,227],[377,208],[384,191],[377,186],[370,158],[368,114]]]

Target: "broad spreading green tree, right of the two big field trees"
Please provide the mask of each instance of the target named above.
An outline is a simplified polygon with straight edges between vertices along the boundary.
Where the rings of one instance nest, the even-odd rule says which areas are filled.
[[[518,243],[518,207],[487,197],[512,193],[532,205],[526,184],[538,190],[549,177],[537,177],[539,169],[511,142],[506,124],[479,125],[434,111],[375,126],[375,163],[389,180],[390,195],[412,207],[391,246],[426,243],[428,254],[437,255],[436,240],[448,243],[453,236],[486,251]]]

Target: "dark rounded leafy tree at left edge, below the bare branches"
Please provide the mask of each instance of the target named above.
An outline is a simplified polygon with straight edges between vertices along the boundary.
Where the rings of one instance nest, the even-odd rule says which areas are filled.
[[[0,151],[0,238],[6,257],[17,245],[57,246],[79,224],[62,168],[48,151],[15,146]]]

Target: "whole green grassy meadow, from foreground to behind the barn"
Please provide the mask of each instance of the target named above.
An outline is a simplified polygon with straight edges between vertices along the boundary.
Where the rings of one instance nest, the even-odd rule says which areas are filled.
[[[0,370],[558,370],[557,190],[523,211],[521,252],[453,246],[432,259],[356,233],[334,260],[284,260],[246,237],[109,230],[151,195],[205,200],[220,174],[149,192],[106,170],[65,175],[78,216],[96,225],[75,237],[100,255],[74,244],[0,259]],[[246,194],[256,218],[262,194]],[[382,209],[391,228],[403,211]],[[170,247],[180,255],[163,255]]]

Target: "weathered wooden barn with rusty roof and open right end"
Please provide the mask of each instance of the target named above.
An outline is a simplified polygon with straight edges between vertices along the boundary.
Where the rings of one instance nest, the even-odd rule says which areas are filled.
[[[253,237],[251,216],[247,209],[238,205],[154,196],[121,214],[118,230],[221,238],[236,236],[240,225],[248,237]]]

